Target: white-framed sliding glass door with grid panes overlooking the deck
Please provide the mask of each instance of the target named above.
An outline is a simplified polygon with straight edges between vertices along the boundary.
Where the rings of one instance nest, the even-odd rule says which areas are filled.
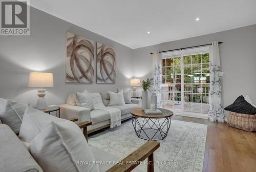
[[[162,54],[162,107],[205,116],[209,97],[208,47]]]

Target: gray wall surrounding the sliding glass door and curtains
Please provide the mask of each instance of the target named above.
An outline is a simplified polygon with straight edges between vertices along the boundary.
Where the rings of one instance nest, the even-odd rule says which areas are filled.
[[[134,49],[134,76],[144,79],[152,77],[150,53],[153,51],[208,44],[214,40],[224,42],[219,46],[221,68],[224,72],[223,106],[231,104],[238,96],[247,94],[256,103],[256,25]]]

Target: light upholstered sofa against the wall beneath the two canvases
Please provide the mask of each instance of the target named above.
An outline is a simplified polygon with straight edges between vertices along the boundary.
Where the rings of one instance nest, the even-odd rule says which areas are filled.
[[[108,104],[108,93],[90,93],[93,97],[94,104],[103,103],[101,95],[105,98],[103,99],[104,105]],[[90,110],[85,107],[76,106],[74,100],[74,94],[70,95],[66,99],[66,104],[58,105],[60,107],[60,118],[78,118],[77,123],[84,121],[91,121],[92,125],[88,126],[88,133],[95,132],[101,128],[110,126],[110,114],[108,111],[103,110]],[[115,107],[121,110],[121,121],[129,119],[132,117],[131,110],[137,107],[141,107],[141,99],[131,99],[132,104],[125,105],[112,105],[109,107]]]

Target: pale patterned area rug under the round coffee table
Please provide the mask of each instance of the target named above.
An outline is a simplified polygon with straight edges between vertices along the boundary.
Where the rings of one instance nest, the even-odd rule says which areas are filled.
[[[170,130],[154,153],[155,171],[202,171],[207,125],[172,120]],[[93,135],[89,144],[120,159],[131,154],[146,140],[135,134],[132,120],[114,129]],[[138,166],[146,171],[146,165]]]

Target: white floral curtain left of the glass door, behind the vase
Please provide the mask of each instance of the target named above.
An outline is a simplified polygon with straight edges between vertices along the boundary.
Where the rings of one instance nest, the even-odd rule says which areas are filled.
[[[153,52],[153,91],[157,95],[157,107],[161,107],[161,83],[162,83],[162,70],[161,70],[161,55],[159,52]]]

